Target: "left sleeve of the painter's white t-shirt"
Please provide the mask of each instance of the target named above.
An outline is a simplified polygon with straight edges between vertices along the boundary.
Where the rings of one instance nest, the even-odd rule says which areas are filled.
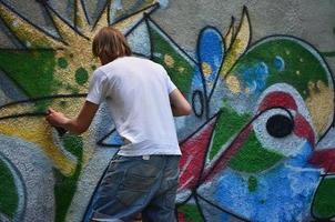
[[[106,98],[108,89],[108,77],[103,71],[99,69],[95,70],[90,82],[87,101],[93,102],[94,104],[100,104]]]

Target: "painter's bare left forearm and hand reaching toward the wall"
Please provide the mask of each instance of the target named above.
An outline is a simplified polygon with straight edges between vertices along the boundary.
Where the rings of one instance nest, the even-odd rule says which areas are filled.
[[[69,119],[62,112],[54,111],[50,108],[48,110],[48,115],[45,117],[45,120],[52,127],[62,128],[74,134],[81,134],[89,129],[98,109],[98,104],[85,101],[78,117]]]

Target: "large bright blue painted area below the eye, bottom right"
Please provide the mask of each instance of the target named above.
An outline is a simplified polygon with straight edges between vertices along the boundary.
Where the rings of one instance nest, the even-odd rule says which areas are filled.
[[[204,190],[214,189],[216,203],[252,221],[300,221],[309,216],[309,203],[321,178],[321,170],[307,163],[311,154],[312,147],[305,142],[298,154],[274,169],[255,174],[226,169],[215,186]],[[254,191],[248,188],[250,176],[257,180]]]

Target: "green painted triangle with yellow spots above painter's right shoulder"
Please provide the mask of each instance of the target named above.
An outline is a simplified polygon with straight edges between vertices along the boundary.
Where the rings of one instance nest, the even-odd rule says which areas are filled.
[[[191,63],[179,53],[179,50],[165,40],[158,31],[150,28],[153,61],[162,64],[172,82],[181,90],[183,94],[189,94],[191,88],[192,74],[195,70]],[[170,57],[173,60],[173,65],[169,65],[164,61],[164,57]]]

